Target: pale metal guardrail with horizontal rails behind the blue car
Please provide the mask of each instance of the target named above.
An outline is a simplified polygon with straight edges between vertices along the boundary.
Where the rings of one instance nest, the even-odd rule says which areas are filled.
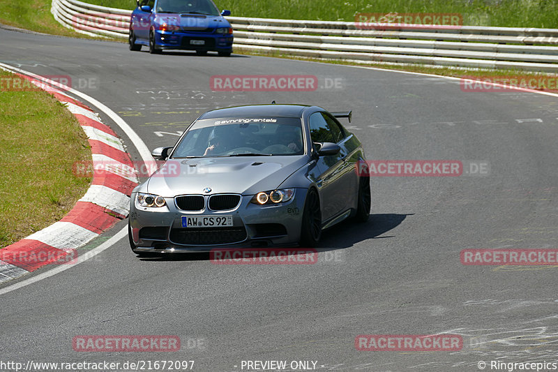
[[[89,34],[127,38],[131,10],[52,0],[61,24]],[[234,45],[302,57],[558,73],[558,29],[382,26],[355,22],[227,17]],[[557,46],[554,46],[557,45]]]

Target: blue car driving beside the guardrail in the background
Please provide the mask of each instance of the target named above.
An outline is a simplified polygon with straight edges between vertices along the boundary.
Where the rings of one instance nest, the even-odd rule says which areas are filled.
[[[130,20],[130,50],[149,47],[151,54],[167,49],[232,53],[232,27],[211,0],[139,0]]]

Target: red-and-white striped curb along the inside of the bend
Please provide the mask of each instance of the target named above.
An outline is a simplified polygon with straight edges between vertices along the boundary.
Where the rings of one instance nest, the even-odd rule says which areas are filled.
[[[44,265],[75,260],[76,248],[84,246],[128,216],[129,195],[138,184],[133,163],[121,140],[112,129],[103,124],[98,114],[59,89],[26,75],[17,75],[54,95],[75,115],[91,146],[93,181],[85,195],[60,221],[0,249],[0,283],[28,274]],[[118,165],[116,168],[119,170],[126,169],[129,172],[97,172],[97,169],[103,167],[98,168],[96,164],[107,161]]]

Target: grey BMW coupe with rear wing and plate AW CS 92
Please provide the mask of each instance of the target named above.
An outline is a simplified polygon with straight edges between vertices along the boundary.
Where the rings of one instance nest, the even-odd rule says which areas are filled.
[[[129,239],[138,255],[216,247],[316,247],[322,230],[370,214],[361,142],[338,118],[306,105],[211,110],[131,195]]]

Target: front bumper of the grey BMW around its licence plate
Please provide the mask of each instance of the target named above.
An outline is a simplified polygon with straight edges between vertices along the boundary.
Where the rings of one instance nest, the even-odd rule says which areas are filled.
[[[131,195],[130,230],[137,252],[208,252],[213,248],[273,247],[298,244],[307,190],[296,188],[288,202],[252,204],[253,195],[242,195],[240,204],[226,211],[183,211],[174,198],[165,207],[141,207]],[[209,198],[210,195],[205,195]],[[182,216],[232,216],[228,228],[183,228]]]

